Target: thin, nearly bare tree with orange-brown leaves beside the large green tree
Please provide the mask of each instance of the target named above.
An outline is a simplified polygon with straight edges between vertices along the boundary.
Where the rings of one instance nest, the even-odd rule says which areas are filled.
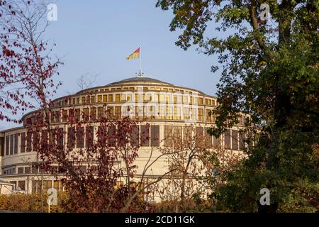
[[[161,148],[173,171],[154,190],[159,192],[162,203],[169,204],[170,211],[211,211],[209,204],[216,203],[208,202],[208,194],[215,191],[216,184],[225,184],[228,172],[242,160],[240,151],[227,150],[220,139],[203,133],[202,127],[188,125],[184,126],[181,138],[179,127],[172,128],[172,143]]]

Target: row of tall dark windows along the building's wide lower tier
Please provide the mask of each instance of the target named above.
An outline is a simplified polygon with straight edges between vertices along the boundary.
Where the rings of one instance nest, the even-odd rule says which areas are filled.
[[[94,137],[99,142],[113,144],[115,135],[114,128],[102,128],[98,126],[86,127],[69,127],[67,132],[63,128],[57,128],[50,135],[50,141],[60,148],[90,148],[93,144]],[[160,133],[159,126],[134,126],[130,137],[130,143],[142,147],[159,147]],[[213,145],[220,145],[220,139],[214,138],[208,134],[209,128],[196,127],[195,133],[191,133],[189,126],[164,126],[164,146],[171,147],[174,145],[174,140],[181,140],[188,138],[190,135],[195,134],[196,138],[200,138],[205,142],[206,148],[212,148]],[[65,143],[65,138],[67,143]],[[242,150],[244,146],[243,135],[237,130],[228,130],[224,135],[224,144],[226,149]],[[48,135],[46,131],[41,133],[17,133],[14,135],[6,136],[6,153],[5,155],[16,155],[18,153],[30,153],[37,151],[41,145],[46,145],[48,142]],[[20,149],[19,149],[20,148]]]

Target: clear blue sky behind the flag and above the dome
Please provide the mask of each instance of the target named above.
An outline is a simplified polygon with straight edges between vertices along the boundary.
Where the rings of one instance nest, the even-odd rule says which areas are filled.
[[[77,92],[77,79],[86,73],[100,74],[94,86],[133,77],[138,60],[125,60],[142,47],[142,68],[155,79],[216,93],[219,74],[211,72],[216,57],[198,54],[195,48],[181,50],[174,43],[179,32],[170,32],[172,11],[155,8],[156,1],[58,0],[57,21],[47,29],[47,38],[63,57],[58,96]],[[1,128],[13,124],[0,123]]]

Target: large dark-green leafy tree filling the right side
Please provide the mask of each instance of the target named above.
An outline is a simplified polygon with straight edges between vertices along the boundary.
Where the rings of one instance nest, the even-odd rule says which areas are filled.
[[[230,211],[318,211],[319,9],[315,0],[157,1],[172,8],[177,45],[218,55],[219,135],[250,114],[247,160],[220,189]],[[269,6],[269,7],[268,7]],[[264,13],[270,10],[271,21]],[[213,21],[224,36],[205,37]],[[271,191],[260,206],[259,190]]]

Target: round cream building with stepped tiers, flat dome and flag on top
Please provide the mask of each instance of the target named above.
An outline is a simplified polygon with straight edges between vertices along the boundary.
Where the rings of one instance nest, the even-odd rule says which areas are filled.
[[[88,118],[89,121],[106,116],[142,119],[137,133],[147,133],[149,139],[140,144],[140,155],[136,160],[139,166],[145,162],[143,154],[147,150],[172,146],[173,138],[182,138],[184,129],[189,125],[196,127],[196,134],[205,140],[208,148],[218,145],[228,150],[240,150],[243,140],[239,129],[244,122],[244,115],[240,116],[238,126],[229,129],[222,138],[214,138],[207,133],[208,128],[215,123],[216,118],[211,111],[217,105],[215,96],[196,89],[138,76],[55,99],[50,108],[50,123],[65,132],[61,138],[57,138],[58,143],[65,145],[69,140],[67,116],[74,116],[77,120]],[[33,165],[37,161],[37,152],[32,143],[35,138],[28,133],[27,126],[35,121],[36,112],[23,116],[22,127],[0,132],[0,178],[16,184],[18,189],[26,193],[39,192],[40,189],[45,191],[50,187],[61,191],[63,187],[60,181]],[[146,127],[146,124],[150,127]],[[96,128],[90,130],[96,134]],[[85,136],[86,133],[84,138],[76,138],[74,149],[89,146]],[[160,175],[163,168],[164,160],[159,160],[148,176]]]

